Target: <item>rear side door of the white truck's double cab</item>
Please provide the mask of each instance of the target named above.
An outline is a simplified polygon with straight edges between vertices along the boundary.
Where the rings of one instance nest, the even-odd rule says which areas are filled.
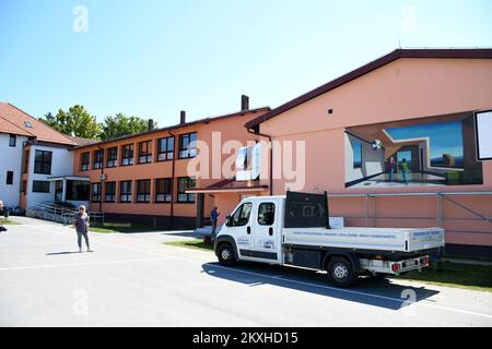
[[[276,201],[256,203],[250,225],[253,230],[253,249],[247,256],[250,261],[280,263],[280,229],[278,222],[279,205]]]

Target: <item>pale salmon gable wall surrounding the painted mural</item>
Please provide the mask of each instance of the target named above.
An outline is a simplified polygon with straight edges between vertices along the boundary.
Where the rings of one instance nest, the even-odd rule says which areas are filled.
[[[333,109],[332,115],[327,110]],[[344,188],[345,128],[403,119],[492,109],[492,60],[399,59],[358,80],[328,92],[260,124],[260,132],[274,141],[304,141],[305,184],[301,190],[327,190],[331,194],[363,194],[364,189]],[[274,194],[292,186],[284,176],[274,180]],[[262,181],[268,184],[267,180]],[[436,192],[436,186],[380,188],[371,193]],[[492,161],[483,163],[483,185],[449,185],[446,192],[492,191]],[[481,215],[492,216],[492,196],[453,197]],[[333,198],[331,213],[365,216],[365,198]],[[435,217],[435,197],[378,197],[377,216]],[[492,245],[492,225],[446,201],[446,239],[449,243]],[[466,218],[466,219],[456,219]],[[365,218],[348,225],[365,226]],[[376,219],[376,227],[429,227],[436,219]]]

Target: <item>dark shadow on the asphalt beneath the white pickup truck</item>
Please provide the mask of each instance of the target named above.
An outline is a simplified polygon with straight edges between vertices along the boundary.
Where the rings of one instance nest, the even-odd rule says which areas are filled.
[[[438,293],[423,287],[401,286],[371,277],[361,277],[354,287],[340,289],[328,284],[324,273],[249,262],[231,268],[207,263],[202,268],[210,276],[249,287],[273,285],[390,310],[399,310]]]

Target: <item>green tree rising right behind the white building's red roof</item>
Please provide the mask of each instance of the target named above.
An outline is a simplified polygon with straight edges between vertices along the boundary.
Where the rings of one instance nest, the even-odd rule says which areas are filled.
[[[95,140],[101,133],[101,124],[96,118],[79,105],[70,107],[68,111],[59,109],[55,117],[48,112],[39,120],[68,135]]]

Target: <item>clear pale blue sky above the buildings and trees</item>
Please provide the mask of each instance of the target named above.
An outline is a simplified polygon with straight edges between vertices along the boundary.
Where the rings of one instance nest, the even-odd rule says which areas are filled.
[[[87,32],[74,32],[75,5]],[[492,47],[492,1],[0,0],[0,100],[160,127],[277,107],[402,47]]]

